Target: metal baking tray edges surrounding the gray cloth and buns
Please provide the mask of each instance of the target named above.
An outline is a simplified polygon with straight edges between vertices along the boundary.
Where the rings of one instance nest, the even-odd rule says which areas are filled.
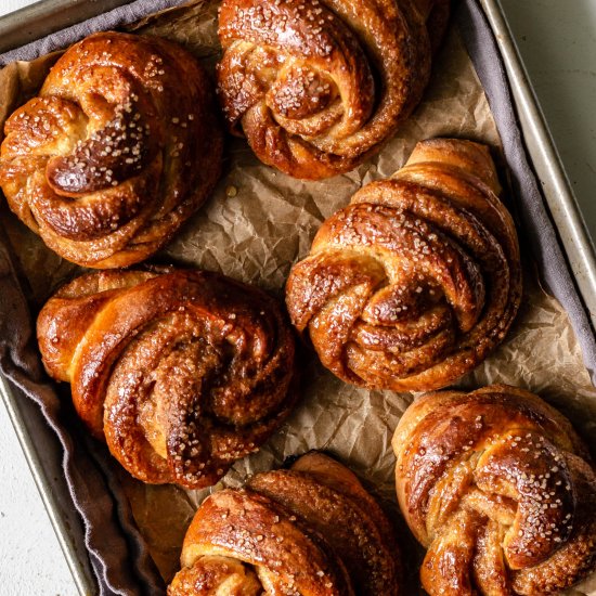
[[[596,326],[596,252],[544,116],[539,107],[498,0],[479,0],[495,33],[514,92],[524,141],[542,182],[553,220],[593,324]],[[42,0],[0,17],[0,51],[18,48],[50,33],[96,16],[126,0]],[[26,23],[24,27],[23,24]],[[62,476],[62,449],[39,407],[0,376],[0,393],[59,542],[81,595],[98,594],[85,547],[85,533]],[[53,438],[40,452],[36,438]]]

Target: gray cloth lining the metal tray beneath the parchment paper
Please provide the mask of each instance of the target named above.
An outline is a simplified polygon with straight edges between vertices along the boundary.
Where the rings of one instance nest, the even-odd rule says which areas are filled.
[[[98,30],[117,28],[177,0],[137,0],[24,48],[0,55],[0,64],[33,60]],[[526,248],[533,251],[543,281],[570,315],[584,362],[595,379],[596,339],[555,229],[529,165],[494,36],[477,0],[463,0],[454,16],[484,86],[518,199]],[[0,228],[1,231],[1,228]],[[163,594],[164,586],[120,494],[112,462],[92,441],[73,441],[60,420],[60,403],[42,372],[28,307],[18,287],[5,237],[0,234],[0,371],[40,404],[64,448],[64,475],[86,524],[86,544],[102,595]]]

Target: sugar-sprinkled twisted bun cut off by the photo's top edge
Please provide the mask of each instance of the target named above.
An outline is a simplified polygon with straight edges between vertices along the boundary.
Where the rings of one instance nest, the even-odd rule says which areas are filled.
[[[219,94],[232,132],[295,178],[349,171],[418,104],[449,0],[223,0]]]

